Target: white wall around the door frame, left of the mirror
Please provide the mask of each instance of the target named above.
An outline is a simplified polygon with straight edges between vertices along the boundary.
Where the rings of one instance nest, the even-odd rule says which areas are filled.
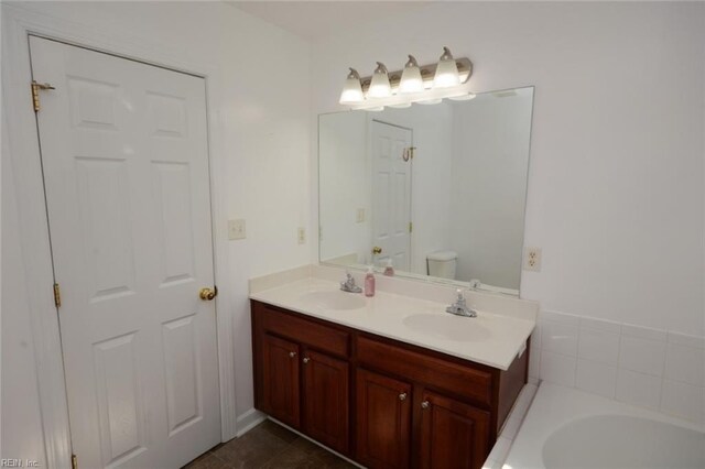
[[[220,2],[31,2],[22,8],[106,34],[129,34],[138,44],[163,47],[184,62],[215,64],[220,70],[224,86],[215,110],[219,120],[210,126],[219,127],[219,134],[225,135],[214,143],[224,149],[227,159],[228,217],[247,220],[248,239],[229,244],[230,284],[218,286],[229,291],[232,308],[218,314],[234,318],[237,411],[245,414],[253,402],[247,281],[311,259],[311,246],[299,246],[296,236],[297,227],[311,223],[308,44]],[[282,77],[286,78],[284,87],[279,86]],[[10,92],[25,91],[23,85]],[[3,179],[12,181],[7,153],[2,155]],[[6,231],[8,226],[17,226],[12,206],[6,205],[12,196],[11,186],[3,184],[3,292],[14,291],[17,285],[11,282],[21,283],[22,277],[21,259],[7,255],[17,249],[7,244],[17,242],[17,236]],[[21,209],[21,205],[15,207]],[[39,403],[23,297],[18,291],[9,304],[3,295],[2,456],[44,460],[40,452],[42,429],[32,414],[39,411]],[[24,391],[18,394],[18,390]],[[17,412],[6,413],[13,407]],[[24,408],[28,414],[21,413]]]

